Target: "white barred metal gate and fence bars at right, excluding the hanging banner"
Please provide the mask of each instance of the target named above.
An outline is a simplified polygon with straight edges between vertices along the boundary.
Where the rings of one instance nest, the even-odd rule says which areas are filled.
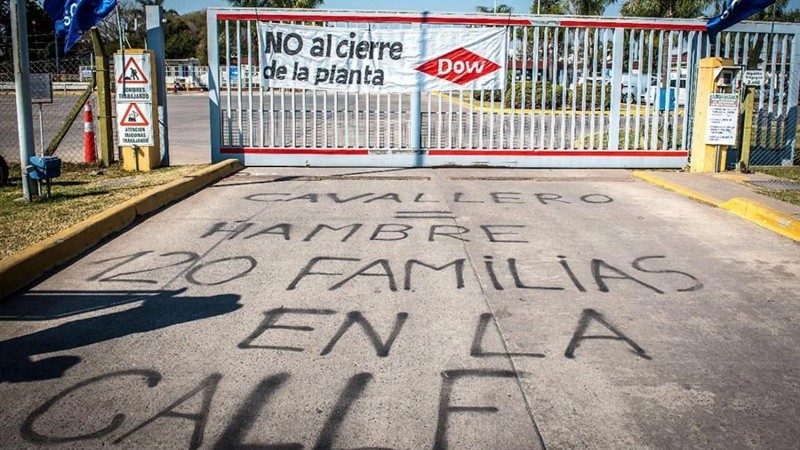
[[[262,89],[256,23],[508,27],[507,88],[417,94]],[[767,72],[754,154],[791,161],[800,25],[701,20],[209,9],[212,159],[246,165],[682,167],[697,61]],[[780,163],[780,162],[779,162]]]

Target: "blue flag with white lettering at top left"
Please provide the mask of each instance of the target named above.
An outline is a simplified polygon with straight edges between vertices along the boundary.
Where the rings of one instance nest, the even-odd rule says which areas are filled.
[[[117,0],[44,0],[44,9],[64,41],[64,53],[117,6]]]

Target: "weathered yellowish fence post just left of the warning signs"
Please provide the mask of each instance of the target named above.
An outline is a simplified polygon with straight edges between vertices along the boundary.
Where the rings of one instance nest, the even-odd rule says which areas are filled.
[[[114,128],[111,119],[111,76],[108,69],[108,55],[103,48],[103,39],[97,28],[92,28],[95,73],[97,79],[97,121],[100,134],[100,164],[108,167],[114,161]]]

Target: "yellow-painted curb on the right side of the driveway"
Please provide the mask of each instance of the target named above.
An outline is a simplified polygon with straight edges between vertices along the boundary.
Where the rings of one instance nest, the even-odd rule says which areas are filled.
[[[762,205],[754,200],[736,197],[728,200],[727,202],[722,202],[679,184],[659,178],[651,173],[637,170],[633,172],[633,176],[661,186],[665,189],[675,191],[699,202],[722,208],[745,220],[760,225],[772,232],[778,233],[781,236],[788,237],[796,242],[800,242],[800,220],[797,220],[788,214],[776,211],[766,205]]]

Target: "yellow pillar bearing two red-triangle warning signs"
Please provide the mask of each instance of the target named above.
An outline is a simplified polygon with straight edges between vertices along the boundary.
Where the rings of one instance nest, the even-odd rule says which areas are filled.
[[[150,50],[114,55],[117,136],[122,167],[128,171],[149,171],[161,163],[159,135],[153,132],[158,123],[154,59]]]

